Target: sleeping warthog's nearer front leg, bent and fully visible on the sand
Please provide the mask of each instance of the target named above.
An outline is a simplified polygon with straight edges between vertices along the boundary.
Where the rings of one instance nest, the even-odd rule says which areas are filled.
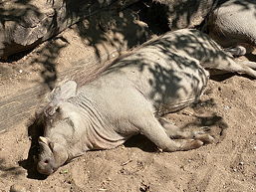
[[[164,151],[179,151],[198,148],[203,145],[200,139],[172,140],[160,122],[151,113],[140,114],[132,120],[132,124],[138,128],[139,132],[154,142]]]

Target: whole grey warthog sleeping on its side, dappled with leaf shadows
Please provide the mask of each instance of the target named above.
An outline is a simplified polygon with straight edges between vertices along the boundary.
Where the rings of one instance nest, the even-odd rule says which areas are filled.
[[[144,44],[81,88],[74,81],[56,88],[44,110],[38,171],[50,175],[88,150],[117,147],[138,133],[163,151],[212,142],[203,130],[181,131],[162,118],[202,95],[208,81],[203,67],[256,78],[208,36],[185,29]]]

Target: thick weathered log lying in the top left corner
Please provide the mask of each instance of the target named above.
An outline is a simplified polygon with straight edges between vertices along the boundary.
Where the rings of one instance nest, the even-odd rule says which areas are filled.
[[[71,25],[138,0],[37,0],[0,2],[0,59],[36,47]]]

